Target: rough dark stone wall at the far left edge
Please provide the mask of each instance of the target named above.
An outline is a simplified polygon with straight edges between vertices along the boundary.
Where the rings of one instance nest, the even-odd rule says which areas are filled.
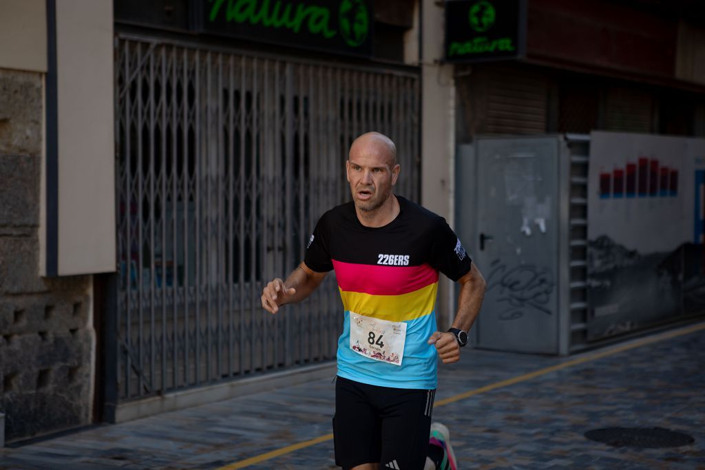
[[[0,69],[0,413],[6,440],[90,423],[92,278],[39,276],[42,74]]]

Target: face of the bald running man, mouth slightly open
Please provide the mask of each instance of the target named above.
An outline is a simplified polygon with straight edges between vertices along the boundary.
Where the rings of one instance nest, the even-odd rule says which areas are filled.
[[[353,145],[345,167],[353,202],[360,211],[374,211],[384,204],[400,170],[399,165],[391,166],[391,158],[378,142]]]

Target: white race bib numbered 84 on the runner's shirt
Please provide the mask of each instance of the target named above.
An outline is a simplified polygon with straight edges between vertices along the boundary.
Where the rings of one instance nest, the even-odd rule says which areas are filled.
[[[401,365],[406,323],[373,319],[350,312],[350,349],[375,361]]]

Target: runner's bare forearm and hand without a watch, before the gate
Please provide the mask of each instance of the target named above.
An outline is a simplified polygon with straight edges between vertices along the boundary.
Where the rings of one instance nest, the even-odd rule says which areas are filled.
[[[286,278],[276,278],[262,290],[262,307],[271,314],[276,314],[279,307],[301,302],[321,285],[328,273],[317,273],[302,262]]]

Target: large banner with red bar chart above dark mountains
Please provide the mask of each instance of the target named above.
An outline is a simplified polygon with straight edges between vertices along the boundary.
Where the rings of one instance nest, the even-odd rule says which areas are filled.
[[[592,132],[588,339],[705,311],[705,139]]]

